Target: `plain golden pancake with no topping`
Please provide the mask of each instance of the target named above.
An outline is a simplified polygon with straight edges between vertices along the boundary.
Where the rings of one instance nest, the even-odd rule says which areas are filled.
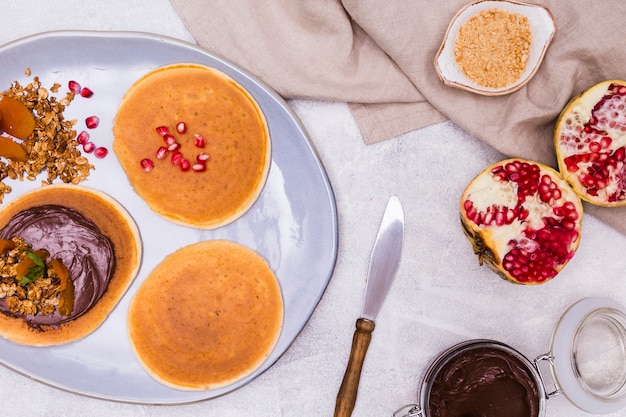
[[[128,312],[131,345],[157,381],[181,390],[229,385],[257,369],[282,329],[279,283],[256,252],[210,240],[168,255]]]

